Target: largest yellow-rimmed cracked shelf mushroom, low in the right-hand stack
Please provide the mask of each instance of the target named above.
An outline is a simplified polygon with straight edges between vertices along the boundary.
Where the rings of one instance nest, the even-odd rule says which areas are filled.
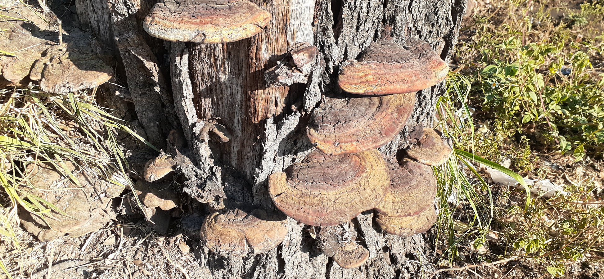
[[[333,156],[315,151],[268,180],[277,208],[312,226],[353,219],[379,204],[390,187],[384,159],[377,150]]]

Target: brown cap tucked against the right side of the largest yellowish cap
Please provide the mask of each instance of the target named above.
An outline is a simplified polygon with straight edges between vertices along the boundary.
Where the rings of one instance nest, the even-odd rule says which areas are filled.
[[[403,167],[391,165],[388,174],[392,188],[376,206],[377,212],[390,217],[406,217],[432,207],[437,182],[431,167],[405,161]]]

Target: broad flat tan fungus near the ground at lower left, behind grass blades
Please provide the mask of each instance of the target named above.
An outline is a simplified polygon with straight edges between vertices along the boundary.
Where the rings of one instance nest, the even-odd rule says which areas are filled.
[[[109,193],[115,191],[106,179],[79,172],[71,162],[64,162],[63,169],[74,174],[80,185],[57,172],[50,164],[32,163],[25,175],[32,188],[24,187],[32,196],[40,197],[53,205],[44,213],[44,219],[28,211],[19,211],[21,223],[40,241],[50,241],[69,234],[83,236],[101,229],[115,217]]]

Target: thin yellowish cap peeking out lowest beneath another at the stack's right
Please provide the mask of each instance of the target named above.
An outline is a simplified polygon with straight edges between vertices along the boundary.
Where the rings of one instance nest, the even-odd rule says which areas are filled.
[[[405,217],[377,213],[376,222],[386,233],[408,237],[428,231],[436,223],[436,211],[434,207],[428,207],[419,214]]]

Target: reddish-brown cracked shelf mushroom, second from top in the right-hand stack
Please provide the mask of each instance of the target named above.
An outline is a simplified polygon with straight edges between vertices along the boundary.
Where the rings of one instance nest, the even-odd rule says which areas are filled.
[[[413,112],[415,92],[329,98],[313,111],[307,136],[324,153],[358,153],[381,147],[398,135]]]

